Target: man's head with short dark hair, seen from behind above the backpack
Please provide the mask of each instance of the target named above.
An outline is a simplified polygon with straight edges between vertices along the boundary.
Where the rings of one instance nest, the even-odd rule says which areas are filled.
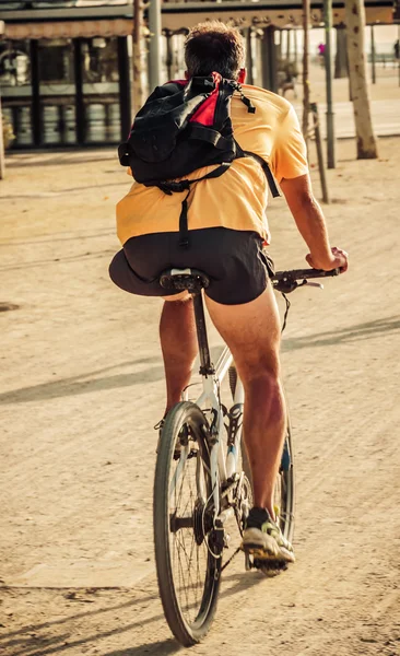
[[[189,78],[215,71],[244,82],[245,46],[239,31],[221,21],[199,23],[186,38],[185,61]]]

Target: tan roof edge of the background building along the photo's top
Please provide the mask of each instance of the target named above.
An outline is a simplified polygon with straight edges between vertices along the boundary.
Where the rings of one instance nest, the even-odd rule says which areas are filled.
[[[344,0],[333,0],[333,24],[344,23]],[[399,8],[399,0],[395,0]],[[365,0],[368,24],[393,22],[393,0]],[[311,0],[311,24],[323,24],[323,0]],[[163,0],[162,26],[178,32],[207,19],[239,27],[297,27],[302,0]],[[132,0],[0,0],[3,37],[126,36],[132,32]]]

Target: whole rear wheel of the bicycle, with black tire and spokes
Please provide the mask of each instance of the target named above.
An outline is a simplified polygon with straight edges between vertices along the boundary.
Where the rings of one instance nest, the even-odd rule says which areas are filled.
[[[199,642],[213,620],[223,532],[214,528],[208,424],[183,401],[161,435],[154,483],[154,544],[165,618],[184,645]]]

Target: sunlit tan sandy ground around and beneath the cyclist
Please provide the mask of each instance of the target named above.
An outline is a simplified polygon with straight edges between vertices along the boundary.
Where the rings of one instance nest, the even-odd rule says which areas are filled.
[[[351,269],[323,292],[292,296],[282,360],[297,563],[266,578],[237,557],[212,631],[190,654],[400,654],[399,147],[383,139],[378,161],[357,162],[354,143],[340,142],[326,214]],[[114,206],[129,180],[111,151],[20,154],[8,165],[0,651],[175,654],[152,544],[160,303],[107,277]],[[304,266],[284,202],[269,215],[278,267]],[[214,330],[211,342],[221,347]]]

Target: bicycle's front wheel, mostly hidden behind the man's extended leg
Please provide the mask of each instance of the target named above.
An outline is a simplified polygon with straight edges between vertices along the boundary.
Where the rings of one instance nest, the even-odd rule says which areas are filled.
[[[228,370],[230,387],[232,397],[235,395],[237,372],[235,365],[231,365]],[[275,488],[275,505],[279,506],[280,511],[280,528],[283,536],[292,542],[294,535],[294,511],[295,511],[295,469],[294,469],[294,457],[293,457],[293,438],[292,438],[292,425],[291,419],[287,411],[286,403],[286,435],[283,446],[283,454],[281,459],[281,466],[277,480]],[[242,450],[242,468],[246,477],[250,481],[252,488],[251,468],[247,456],[245,442],[242,435],[240,442]]]

